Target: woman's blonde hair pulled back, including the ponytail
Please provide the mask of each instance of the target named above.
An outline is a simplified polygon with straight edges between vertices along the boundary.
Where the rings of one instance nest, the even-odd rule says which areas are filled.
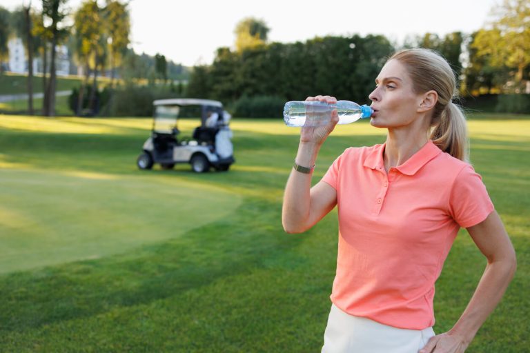
[[[431,137],[440,150],[462,161],[469,160],[466,117],[462,108],[451,99],[457,97],[455,73],[438,52],[422,48],[396,52],[389,59],[405,65],[413,81],[413,90],[424,93],[434,90],[438,101],[431,117]]]

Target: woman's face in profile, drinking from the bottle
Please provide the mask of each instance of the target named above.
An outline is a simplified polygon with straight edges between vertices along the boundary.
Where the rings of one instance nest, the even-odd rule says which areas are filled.
[[[374,110],[370,122],[377,128],[409,125],[418,117],[418,107],[422,103],[422,94],[414,92],[405,66],[395,59],[383,66],[369,98]]]

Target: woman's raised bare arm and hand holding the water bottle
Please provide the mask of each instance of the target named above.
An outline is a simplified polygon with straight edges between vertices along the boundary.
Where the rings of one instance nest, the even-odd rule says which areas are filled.
[[[308,97],[309,101],[320,100],[335,103],[329,96]],[[315,165],[320,146],[337,124],[337,111],[331,113],[331,121],[320,128],[302,128],[300,145],[295,161],[299,165]],[[313,227],[337,203],[337,192],[331,185],[320,181],[311,188],[311,174],[291,170],[284,192],[282,224],[288,233],[300,233]]]

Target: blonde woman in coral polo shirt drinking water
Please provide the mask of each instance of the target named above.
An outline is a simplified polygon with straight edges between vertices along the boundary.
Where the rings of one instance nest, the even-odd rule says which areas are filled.
[[[322,352],[464,352],[511,281],[515,252],[467,163],[449,64],[430,50],[404,50],[375,83],[371,125],[388,129],[386,142],[346,149],[311,188],[318,151],[338,121],[330,111],[328,125],[302,128],[284,194],[289,233],[308,230],[338,206],[337,273]],[[461,227],[487,266],[460,319],[435,335],[434,283]]]

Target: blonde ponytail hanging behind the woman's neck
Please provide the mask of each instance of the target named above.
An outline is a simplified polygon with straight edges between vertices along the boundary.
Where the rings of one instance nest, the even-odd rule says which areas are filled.
[[[462,109],[455,103],[450,101],[446,105],[430,138],[440,150],[461,161],[469,161],[466,118]]]

